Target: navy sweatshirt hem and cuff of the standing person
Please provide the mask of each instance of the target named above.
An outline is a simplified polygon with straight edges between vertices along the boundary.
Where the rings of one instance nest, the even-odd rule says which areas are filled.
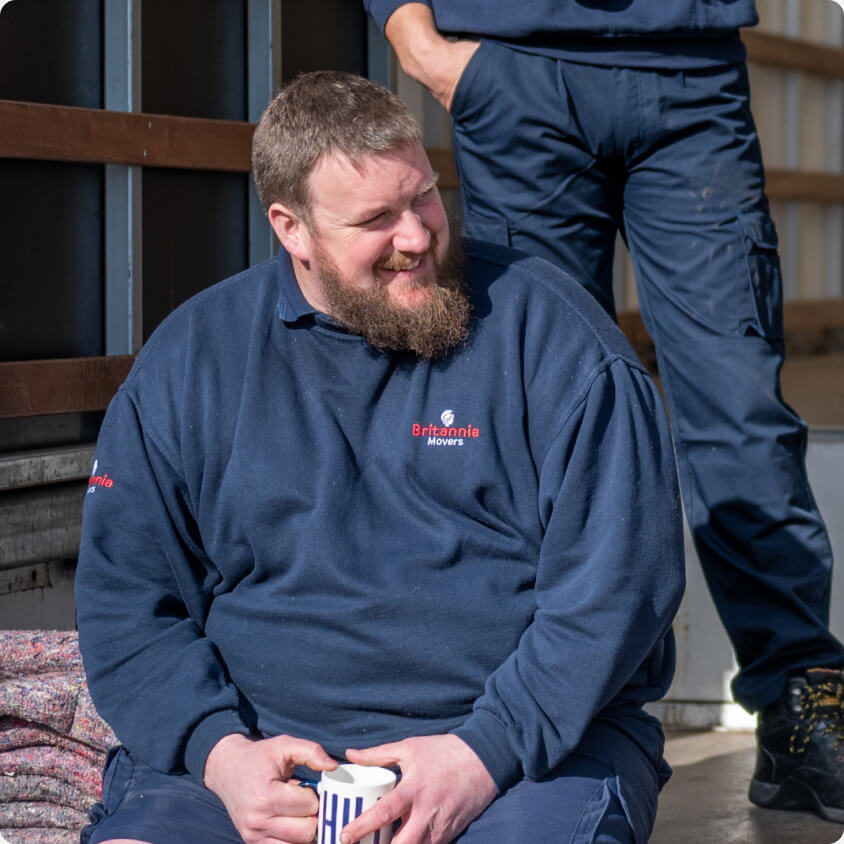
[[[408,0],[364,0],[383,29]],[[412,0],[444,35],[599,65],[701,68],[743,61],[739,27],[759,22],[754,0]]]

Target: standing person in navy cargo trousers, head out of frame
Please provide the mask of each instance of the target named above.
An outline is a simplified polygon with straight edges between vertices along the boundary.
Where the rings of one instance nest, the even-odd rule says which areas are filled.
[[[624,236],[733,693],[760,712],[750,799],[844,822],[844,649],[807,428],[779,388],[777,237],[739,37],[753,0],[365,6],[451,113],[467,235],[568,269],[610,314]]]

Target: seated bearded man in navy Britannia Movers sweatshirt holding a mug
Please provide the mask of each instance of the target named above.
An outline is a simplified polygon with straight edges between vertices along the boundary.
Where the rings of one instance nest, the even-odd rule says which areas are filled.
[[[644,844],[683,588],[648,373],[563,271],[463,254],[380,86],[295,80],[253,165],[278,257],[158,327],[97,443],[79,642],[123,744],[83,841],[304,844],[300,766],[346,757],[402,778],[344,844]]]

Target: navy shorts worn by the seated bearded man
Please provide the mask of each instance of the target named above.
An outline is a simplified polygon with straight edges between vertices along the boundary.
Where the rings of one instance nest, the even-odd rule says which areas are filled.
[[[667,766],[666,766],[667,769]],[[538,782],[501,794],[459,844],[646,844],[665,772],[612,725],[593,723],[577,751]],[[168,775],[126,748],[111,752],[103,801],[82,844],[136,838],[150,844],[243,844],[225,807],[187,775]]]

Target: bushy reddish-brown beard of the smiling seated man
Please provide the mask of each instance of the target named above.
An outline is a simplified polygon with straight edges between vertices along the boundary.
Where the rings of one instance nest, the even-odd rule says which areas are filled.
[[[432,243],[431,254],[435,249]],[[428,298],[413,307],[394,303],[381,285],[354,287],[319,247],[315,263],[329,315],[377,349],[412,351],[434,359],[445,356],[469,335],[471,306],[459,238],[452,238],[445,259],[435,262]]]

